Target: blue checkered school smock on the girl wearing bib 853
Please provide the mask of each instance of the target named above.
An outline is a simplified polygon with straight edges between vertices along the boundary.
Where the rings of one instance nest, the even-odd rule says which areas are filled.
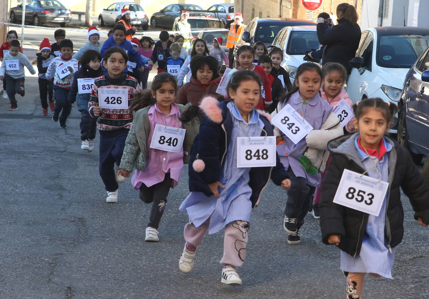
[[[354,146],[359,158],[368,171],[368,175],[372,178],[380,178],[377,170],[374,169],[374,162],[377,162],[377,169],[381,172],[381,180],[389,181],[389,152],[392,150],[392,145],[386,138],[383,138],[384,146],[387,153],[378,161],[377,157],[370,157],[359,148],[356,137]],[[374,161],[374,162],[373,162]],[[365,235],[363,236],[362,247],[360,254],[355,257],[341,251],[341,270],[346,272],[356,273],[375,273],[386,278],[392,277],[393,261],[395,260],[396,247],[392,248],[392,253],[387,249],[389,240],[384,236],[384,224],[386,221],[386,204],[389,192],[384,196],[383,205],[381,205],[380,214],[378,216],[369,215],[368,223],[366,224]]]

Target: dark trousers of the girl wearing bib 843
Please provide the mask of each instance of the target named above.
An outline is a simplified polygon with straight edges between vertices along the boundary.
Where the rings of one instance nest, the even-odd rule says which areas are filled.
[[[304,224],[304,217],[313,203],[312,196],[316,187],[307,185],[305,178],[296,177],[290,167],[287,169],[287,173],[292,184],[287,191],[288,199],[284,214],[289,218],[297,218],[296,228],[299,229]]]

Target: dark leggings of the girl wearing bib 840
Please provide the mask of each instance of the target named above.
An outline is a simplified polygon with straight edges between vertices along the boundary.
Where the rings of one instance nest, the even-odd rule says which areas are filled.
[[[165,174],[164,180],[151,187],[142,184],[139,189],[140,199],[145,203],[152,202],[151,214],[149,216],[148,227],[158,229],[162,215],[164,214],[167,196],[171,187],[170,173]]]

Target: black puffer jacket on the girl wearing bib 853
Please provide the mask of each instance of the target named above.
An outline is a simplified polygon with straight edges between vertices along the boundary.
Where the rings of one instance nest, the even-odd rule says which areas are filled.
[[[332,200],[344,169],[364,172],[364,166],[354,146],[357,136],[359,133],[348,134],[328,143],[331,160],[322,182],[320,196],[320,229],[323,243],[329,244],[328,238],[331,235],[340,235],[338,248],[351,256],[360,253],[369,214],[338,205]],[[408,151],[392,139],[388,139],[388,142],[393,148],[389,152],[389,189],[384,233],[389,240],[389,247],[394,248],[404,236],[404,211],[399,187],[410,199],[415,211],[414,218],[421,218],[424,223],[429,224],[429,186]]]

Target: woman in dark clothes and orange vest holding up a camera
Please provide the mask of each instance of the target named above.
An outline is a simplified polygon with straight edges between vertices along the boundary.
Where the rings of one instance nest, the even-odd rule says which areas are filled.
[[[353,5],[341,3],[337,6],[337,18],[338,25],[333,26],[329,31],[325,29],[325,19],[317,19],[317,38],[320,44],[326,45],[322,65],[328,62],[338,62],[350,74],[351,66],[348,62],[356,55],[361,34],[357,24],[356,9]]]

